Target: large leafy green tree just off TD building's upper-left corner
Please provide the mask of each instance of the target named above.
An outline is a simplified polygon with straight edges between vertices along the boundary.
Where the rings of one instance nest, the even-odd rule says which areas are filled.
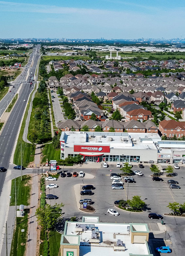
[[[36,209],[37,222],[41,226],[47,226],[47,229],[53,229],[56,225],[59,213],[61,212],[61,207],[64,205],[55,204],[54,206],[46,204],[44,208]]]

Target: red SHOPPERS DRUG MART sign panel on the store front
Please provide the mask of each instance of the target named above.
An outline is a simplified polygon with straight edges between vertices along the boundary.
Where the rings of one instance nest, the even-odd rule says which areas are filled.
[[[95,146],[95,145],[74,145],[74,152],[100,152],[109,153],[110,146]]]

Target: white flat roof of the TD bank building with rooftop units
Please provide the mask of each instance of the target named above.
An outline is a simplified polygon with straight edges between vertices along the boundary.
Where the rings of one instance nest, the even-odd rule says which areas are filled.
[[[83,225],[92,225],[89,222],[67,222],[64,235],[79,235],[80,236],[80,256],[97,256],[97,255],[106,255],[106,256],[129,256],[133,255],[149,255],[147,244],[134,243],[131,244],[130,237],[130,224],[116,224],[116,223],[93,223],[94,228],[99,230],[100,233],[100,243],[93,244],[89,246],[89,239],[92,238],[92,231],[85,230],[84,232],[76,231],[76,226],[82,227]],[[132,229],[137,230],[138,232],[147,232],[145,225],[137,225],[134,227],[134,224],[131,227]],[[114,251],[113,245],[120,239],[125,244],[125,251]]]

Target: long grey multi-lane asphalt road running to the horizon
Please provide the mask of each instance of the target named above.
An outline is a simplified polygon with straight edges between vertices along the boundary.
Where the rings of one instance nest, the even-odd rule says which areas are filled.
[[[19,98],[18,98],[14,108],[12,109],[12,111],[8,117],[8,120],[0,134],[0,166],[5,167],[7,170],[9,167],[9,161],[10,161],[10,157],[11,157],[12,150],[14,147],[15,139],[16,139],[16,136],[18,133],[18,129],[19,129],[19,126],[21,123],[21,119],[22,119],[22,116],[23,116],[23,113],[24,113],[24,110],[26,107],[26,102],[27,102],[29,94],[32,90],[30,87],[30,83],[29,83],[29,81],[26,80],[26,78],[28,77],[28,80],[29,80],[28,75],[30,75],[31,72],[32,72],[32,74],[35,74],[37,62],[39,59],[38,49],[39,49],[39,46],[37,46],[37,48],[35,48],[33,50],[32,54],[30,55],[29,61],[28,61],[28,69],[23,70],[23,72],[19,76],[18,80],[14,81],[15,88],[11,89],[12,92],[16,92],[17,88],[19,87],[19,83],[20,83],[19,79],[23,80],[23,85],[19,92]],[[32,60],[33,60],[33,62],[32,62]],[[32,66],[30,67],[31,64],[32,64]],[[5,98],[7,100],[8,100],[7,97],[9,95],[9,93],[5,96]],[[5,104],[5,99],[0,102],[0,109],[2,109],[3,107],[7,107],[7,102]],[[1,175],[1,179],[0,179],[0,195],[1,195],[3,184],[5,181],[5,177],[6,177],[6,172],[0,173],[0,175]]]

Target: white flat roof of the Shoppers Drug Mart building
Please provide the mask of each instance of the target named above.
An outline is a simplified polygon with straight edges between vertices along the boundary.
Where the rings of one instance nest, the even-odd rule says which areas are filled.
[[[161,141],[157,133],[126,133],[126,132],[62,132],[60,141],[64,140],[66,147],[75,145],[104,145],[110,148],[133,148],[157,150],[155,142]]]

